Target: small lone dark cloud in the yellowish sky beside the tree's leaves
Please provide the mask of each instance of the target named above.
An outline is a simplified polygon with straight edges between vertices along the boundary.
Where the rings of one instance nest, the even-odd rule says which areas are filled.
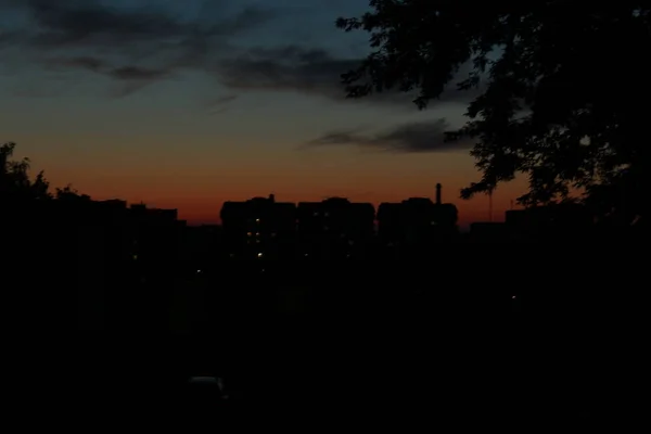
[[[359,130],[332,131],[307,143],[311,146],[356,145],[391,152],[438,152],[471,148],[468,140],[448,141],[450,125],[445,118],[397,125],[378,133]]]

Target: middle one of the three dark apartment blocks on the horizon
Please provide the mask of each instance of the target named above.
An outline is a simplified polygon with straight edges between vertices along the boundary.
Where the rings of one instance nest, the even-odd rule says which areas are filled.
[[[331,197],[297,207],[298,255],[314,259],[367,257],[374,234],[370,203]]]

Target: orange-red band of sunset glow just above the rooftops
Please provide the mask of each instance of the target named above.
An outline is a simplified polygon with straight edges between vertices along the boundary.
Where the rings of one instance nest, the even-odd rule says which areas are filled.
[[[378,208],[383,202],[401,202],[409,197],[434,200],[437,182],[443,184],[443,202],[454,203],[459,209],[460,227],[490,220],[486,195],[477,195],[470,201],[459,197],[460,189],[468,184],[469,179],[476,177],[474,169],[472,173],[450,173],[447,176],[432,175],[422,169],[405,176],[404,169],[387,167],[387,171],[371,171],[368,167],[361,167],[359,170],[356,168],[345,173],[319,169],[310,173],[305,167],[297,167],[275,173],[273,167],[257,164],[244,171],[240,171],[242,167],[233,165],[222,171],[215,170],[218,175],[210,177],[192,171],[191,167],[179,168],[174,176],[120,176],[114,170],[69,170],[60,167],[60,170],[47,171],[47,175],[52,186],[72,182],[79,192],[95,200],[120,199],[129,204],[144,203],[150,207],[176,208],[179,219],[191,225],[218,224],[224,202],[266,197],[270,193],[280,202],[319,202],[341,196],[352,202],[371,203]],[[409,170],[406,173],[409,174]],[[511,182],[496,191],[493,197],[493,221],[503,220],[505,212],[522,194],[524,187],[523,182]]]

